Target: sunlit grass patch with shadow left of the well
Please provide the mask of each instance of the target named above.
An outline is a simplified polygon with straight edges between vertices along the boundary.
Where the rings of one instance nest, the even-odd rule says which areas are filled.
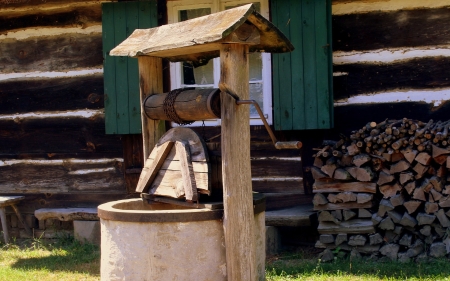
[[[52,241],[53,240],[53,241]],[[100,280],[100,250],[72,237],[0,245],[0,281]]]

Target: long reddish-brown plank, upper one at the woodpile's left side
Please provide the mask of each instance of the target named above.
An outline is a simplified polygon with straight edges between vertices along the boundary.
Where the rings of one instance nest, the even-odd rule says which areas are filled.
[[[340,182],[334,180],[316,180],[313,185],[314,193],[324,192],[367,192],[376,193],[376,183],[372,182]]]

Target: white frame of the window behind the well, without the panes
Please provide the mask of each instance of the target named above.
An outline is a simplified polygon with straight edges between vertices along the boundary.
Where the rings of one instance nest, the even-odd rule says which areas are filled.
[[[210,8],[211,13],[217,13],[223,11],[226,6],[237,6],[242,4],[247,4],[251,2],[259,2],[261,5],[261,15],[265,18],[269,18],[269,1],[268,0],[176,0],[167,1],[167,18],[168,23],[178,22],[178,13],[180,10],[190,10],[190,9],[200,9],[200,8]],[[262,81],[263,85],[263,108],[261,110],[266,117],[267,122],[271,125],[272,116],[272,56],[270,53],[261,53],[262,59]],[[178,89],[181,87],[181,63],[170,63],[170,87],[171,89]],[[220,80],[220,58],[213,59],[214,66],[214,88],[219,87]],[[192,85],[205,86],[205,85]],[[220,119],[205,120],[206,126],[220,126]],[[175,124],[176,125],[176,124]],[[197,121],[190,126],[201,126],[202,122]],[[251,116],[250,125],[263,125],[263,122],[259,116]]]

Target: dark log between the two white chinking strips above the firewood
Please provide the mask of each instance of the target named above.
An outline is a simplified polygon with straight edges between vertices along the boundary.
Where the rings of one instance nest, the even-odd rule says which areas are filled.
[[[449,63],[450,58],[448,57],[427,57],[389,64],[335,65],[333,67],[335,72],[345,72],[348,75],[334,78],[333,81],[336,81],[334,99],[405,88],[449,87],[450,80],[448,75],[443,72],[448,68]]]

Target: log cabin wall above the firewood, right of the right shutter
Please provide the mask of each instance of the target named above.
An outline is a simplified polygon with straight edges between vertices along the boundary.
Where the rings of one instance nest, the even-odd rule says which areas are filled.
[[[333,1],[335,131],[448,120],[450,1]]]

